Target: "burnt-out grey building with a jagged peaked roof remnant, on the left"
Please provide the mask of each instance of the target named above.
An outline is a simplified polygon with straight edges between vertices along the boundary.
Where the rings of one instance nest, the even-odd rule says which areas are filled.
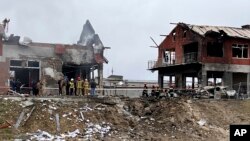
[[[57,80],[67,76],[82,79],[98,78],[103,81],[104,46],[87,20],[77,44],[53,44],[32,42],[29,38],[19,41],[19,36],[6,36],[0,25],[0,92],[5,93],[10,79],[19,80],[25,87],[41,80],[44,93],[57,88]],[[98,76],[94,76],[94,71]],[[55,89],[56,90],[56,89]]]

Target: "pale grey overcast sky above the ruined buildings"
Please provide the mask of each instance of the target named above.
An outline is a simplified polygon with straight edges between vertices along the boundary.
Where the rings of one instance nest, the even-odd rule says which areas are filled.
[[[109,64],[104,76],[156,80],[157,72],[147,70],[156,60],[160,34],[185,22],[240,27],[250,24],[249,0],[0,0],[0,20],[10,18],[8,34],[30,37],[34,42],[73,44],[83,24],[90,20],[99,34]]]

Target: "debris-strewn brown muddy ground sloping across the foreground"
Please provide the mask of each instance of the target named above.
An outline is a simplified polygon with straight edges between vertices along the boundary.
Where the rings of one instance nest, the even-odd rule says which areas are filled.
[[[249,100],[65,99],[1,97],[0,140],[223,141],[250,123]]]

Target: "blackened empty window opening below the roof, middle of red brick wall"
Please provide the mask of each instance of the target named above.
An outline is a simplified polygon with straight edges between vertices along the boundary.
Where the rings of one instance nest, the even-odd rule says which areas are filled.
[[[207,56],[223,57],[223,44],[219,42],[208,42],[207,43]]]

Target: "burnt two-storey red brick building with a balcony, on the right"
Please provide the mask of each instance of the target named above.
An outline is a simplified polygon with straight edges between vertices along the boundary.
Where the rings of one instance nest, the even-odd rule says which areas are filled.
[[[158,83],[178,89],[225,85],[250,91],[250,25],[241,28],[177,23],[158,48]],[[242,88],[242,87],[241,87]]]

